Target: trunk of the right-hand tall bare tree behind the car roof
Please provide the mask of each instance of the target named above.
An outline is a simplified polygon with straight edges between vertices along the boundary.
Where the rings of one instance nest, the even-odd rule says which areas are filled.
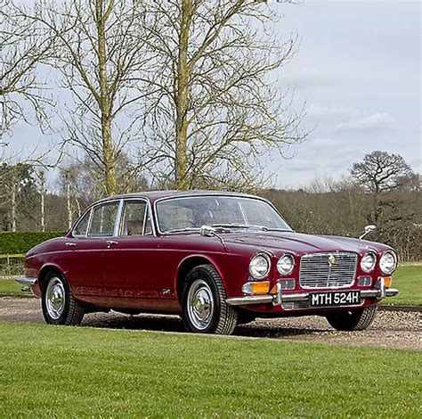
[[[177,62],[176,91],[176,132],[175,132],[175,187],[178,190],[188,189],[187,178],[187,136],[189,107],[188,46],[192,16],[191,0],[182,2],[182,21],[179,34],[179,57]]]

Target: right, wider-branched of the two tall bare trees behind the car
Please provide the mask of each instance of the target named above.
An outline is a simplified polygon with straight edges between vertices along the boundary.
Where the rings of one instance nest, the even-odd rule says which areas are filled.
[[[158,21],[149,46],[158,58],[146,75],[153,92],[146,135],[158,175],[177,189],[250,187],[262,178],[264,153],[282,156],[302,139],[300,115],[272,88],[294,39],[280,45],[268,31],[277,14],[255,0],[149,4]]]

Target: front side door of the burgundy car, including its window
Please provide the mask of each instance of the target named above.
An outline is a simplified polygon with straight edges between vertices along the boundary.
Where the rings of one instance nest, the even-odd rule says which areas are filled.
[[[146,199],[126,199],[118,237],[104,252],[104,290],[110,307],[158,309],[166,307],[169,290],[160,286],[159,239],[153,234]]]

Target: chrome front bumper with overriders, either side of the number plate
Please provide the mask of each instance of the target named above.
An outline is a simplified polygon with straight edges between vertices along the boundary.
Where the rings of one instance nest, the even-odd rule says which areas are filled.
[[[385,297],[394,297],[399,290],[394,288],[385,288],[384,280],[377,283],[377,288],[372,290],[361,290],[361,298],[376,298],[382,300]],[[299,292],[296,294],[283,294],[280,283],[277,283],[277,293],[274,295],[248,295],[246,297],[234,297],[227,299],[226,302],[229,306],[248,306],[251,304],[269,304],[280,306],[285,302],[294,301],[308,301],[312,292]]]

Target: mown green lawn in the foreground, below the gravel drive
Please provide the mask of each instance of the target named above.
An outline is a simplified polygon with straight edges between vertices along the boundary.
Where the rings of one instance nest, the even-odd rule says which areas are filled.
[[[0,416],[420,417],[422,353],[0,323]]]

